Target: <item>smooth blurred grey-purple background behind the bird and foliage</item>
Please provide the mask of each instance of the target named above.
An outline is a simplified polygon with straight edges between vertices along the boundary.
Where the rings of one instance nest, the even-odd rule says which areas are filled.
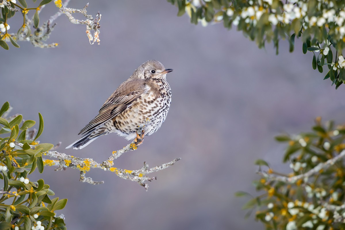
[[[72,1],[69,7],[86,3]],[[56,11],[49,4],[41,23]],[[158,180],[149,182],[148,192],[102,170],[87,174],[105,181],[98,186],[79,182],[76,170],[52,167],[30,180],[43,178],[56,196],[68,198],[58,212],[68,229],[263,229],[253,216],[244,219],[241,207],[247,199],[235,198],[234,192],[256,194],[251,182],[258,178],[257,158],[282,167],[285,146],[275,143],[275,135],[307,131],[316,116],[344,122],[344,86],[335,90],[331,81],[322,80],[324,74],[312,69],[312,54],[302,53],[300,41],[294,53],[282,41],[276,56],[272,44],[259,50],[236,29],[190,24],[164,0],[90,1],[88,13],[97,11],[101,45],[90,45],[86,27],[62,15],[49,40],[59,43],[57,48],[20,42],[20,49],[0,49],[1,104],[9,101],[12,114],[24,119],[38,121],[40,112],[45,121],[41,143],[61,141],[58,151],[101,162],[128,142],[110,134],[82,150],[64,148],[141,63],[156,59],[175,70],[167,76],[172,88],[168,117],[114,167],[139,169],[144,161],[156,166],[182,159],[151,175]],[[21,22],[20,15],[10,19],[10,32],[16,33]]]

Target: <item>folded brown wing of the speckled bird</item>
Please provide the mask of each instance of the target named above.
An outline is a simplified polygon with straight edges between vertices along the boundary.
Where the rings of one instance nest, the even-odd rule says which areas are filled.
[[[144,79],[125,81],[103,104],[99,110],[99,114],[93,118],[93,120],[90,121],[79,134],[88,133],[97,126],[114,118],[128,108],[131,103],[137,100],[142,94],[145,94],[149,89],[150,87],[145,84]]]

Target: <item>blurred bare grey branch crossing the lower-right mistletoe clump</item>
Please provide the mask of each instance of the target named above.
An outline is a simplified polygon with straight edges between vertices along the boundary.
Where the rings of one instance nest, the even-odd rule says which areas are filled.
[[[300,179],[305,179],[306,180],[313,176],[314,174],[318,173],[320,170],[322,169],[326,169],[331,165],[334,165],[334,163],[336,161],[338,161],[339,159],[343,158],[345,156],[345,150],[343,150],[339,155],[327,160],[326,162],[320,163],[318,165],[316,165],[314,168],[312,168],[311,170],[303,173],[303,174],[299,174],[297,176],[293,176],[293,177],[284,177],[284,176],[274,176],[272,174],[269,174],[268,172],[264,172],[264,171],[259,171],[258,174],[266,177],[268,180],[275,180],[275,181],[283,181],[286,183],[290,183],[293,184],[295,183],[297,180]]]

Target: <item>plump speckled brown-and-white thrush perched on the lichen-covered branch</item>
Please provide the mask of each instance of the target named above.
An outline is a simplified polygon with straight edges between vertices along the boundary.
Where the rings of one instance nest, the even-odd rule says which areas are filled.
[[[142,139],[155,133],[167,117],[171,89],[166,81],[167,73],[156,60],[141,64],[134,73],[122,83],[99,110],[99,114],[83,128],[83,136],[66,148],[82,149],[98,137],[117,133],[127,140]],[[138,125],[149,119],[144,133],[136,133]],[[138,143],[141,144],[141,143]]]

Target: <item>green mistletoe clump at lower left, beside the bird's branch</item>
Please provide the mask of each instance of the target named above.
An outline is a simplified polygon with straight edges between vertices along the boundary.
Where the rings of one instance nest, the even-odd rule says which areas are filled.
[[[28,179],[36,169],[43,172],[42,155],[53,147],[36,142],[43,131],[42,115],[39,114],[35,135],[28,128],[36,122],[23,122],[22,115],[7,118],[9,107],[6,102],[0,109],[0,187],[3,188],[0,191],[0,229],[66,229],[63,218],[56,217],[55,210],[63,209],[67,199],[50,199],[54,192],[49,185],[42,179],[37,182]],[[16,142],[23,143],[23,147]],[[29,144],[36,147],[32,149]]]

